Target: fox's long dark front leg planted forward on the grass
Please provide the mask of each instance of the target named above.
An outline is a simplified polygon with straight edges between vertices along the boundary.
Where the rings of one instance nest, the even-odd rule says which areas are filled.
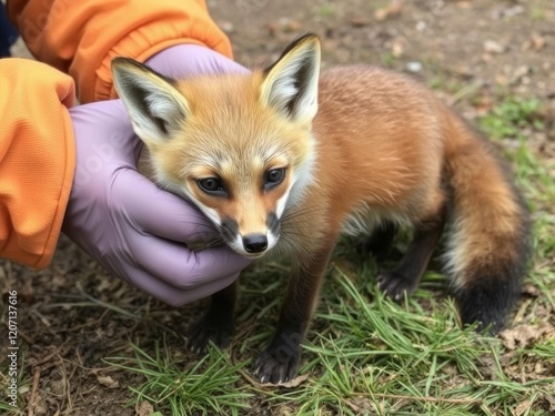
[[[296,261],[296,271],[289,283],[275,334],[255,363],[255,375],[261,383],[286,383],[299,372],[301,342],[309,327],[335,239],[325,241],[325,247],[316,255]]]

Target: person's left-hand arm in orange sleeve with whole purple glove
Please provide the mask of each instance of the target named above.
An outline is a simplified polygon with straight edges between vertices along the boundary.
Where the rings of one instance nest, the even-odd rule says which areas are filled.
[[[48,266],[63,229],[113,275],[172,305],[230,285],[249,263],[182,199],[137,172],[141,143],[120,100],[73,105],[73,81],[0,60],[0,257]]]

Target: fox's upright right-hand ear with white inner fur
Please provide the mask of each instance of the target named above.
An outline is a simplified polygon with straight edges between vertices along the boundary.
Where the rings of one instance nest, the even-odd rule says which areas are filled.
[[[309,33],[291,43],[264,71],[261,98],[294,121],[311,122],[317,112],[320,40]]]

